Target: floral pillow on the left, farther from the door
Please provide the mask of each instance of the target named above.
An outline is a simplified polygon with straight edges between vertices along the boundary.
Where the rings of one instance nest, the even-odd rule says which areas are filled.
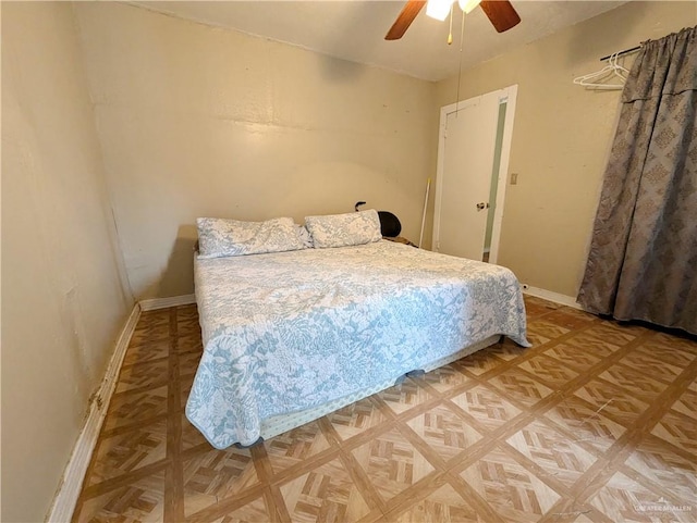
[[[222,258],[304,249],[291,217],[267,222],[239,222],[219,217],[199,217],[198,258]]]

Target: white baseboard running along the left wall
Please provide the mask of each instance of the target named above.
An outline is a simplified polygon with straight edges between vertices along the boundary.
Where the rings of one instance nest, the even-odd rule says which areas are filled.
[[[85,480],[85,473],[87,472],[91,453],[97,445],[97,437],[99,436],[99,431],[101,431],[101,425],[107,415],[111,395],[117,386],[119,371],[121,370],[123,358],[126,354],[126,348],[129,347],[133,331],[139,317],[140,306],[136,303],[119,335],[101,385],[90,400],[89,413],[85,421],[85,426],[77,437],[73,453],[63,472],[62,482],[53,499],[51,510],[49,511],[48,522],[65,523],[73,518],[77,497],[80,496],[83,481]]]

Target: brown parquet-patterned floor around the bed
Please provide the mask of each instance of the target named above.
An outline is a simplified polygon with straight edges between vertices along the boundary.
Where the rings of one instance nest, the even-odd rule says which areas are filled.
[[[526,297],[510,340],[249,449],[184,415],[196,306],[144,312],[75,522],[697,522],[697,341]]]

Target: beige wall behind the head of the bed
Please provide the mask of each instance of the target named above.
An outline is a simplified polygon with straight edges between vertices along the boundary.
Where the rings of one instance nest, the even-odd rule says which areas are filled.
[[[197,216],[389,210],[418,239],[435,84],[132,5],[76,4],[129,278],[193,291]]]

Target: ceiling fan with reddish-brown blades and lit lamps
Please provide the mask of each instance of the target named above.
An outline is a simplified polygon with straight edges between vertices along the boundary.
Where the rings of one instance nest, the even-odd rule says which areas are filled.
[[[414,22],[414,18],[416,18],[416,15],[427,3],[426,14],[433,18],[445,20],[454,0],[428,0],[428,2],[426,0],[407,0],[384,39],[399,40],[402,38],[412,22]],[[469,13],[477,5],[481,5],[481,10],[499,33],[509,30],[521,22],[521,16],[515,12],[509,0],[460,0],[458,3],[465,13]]]

